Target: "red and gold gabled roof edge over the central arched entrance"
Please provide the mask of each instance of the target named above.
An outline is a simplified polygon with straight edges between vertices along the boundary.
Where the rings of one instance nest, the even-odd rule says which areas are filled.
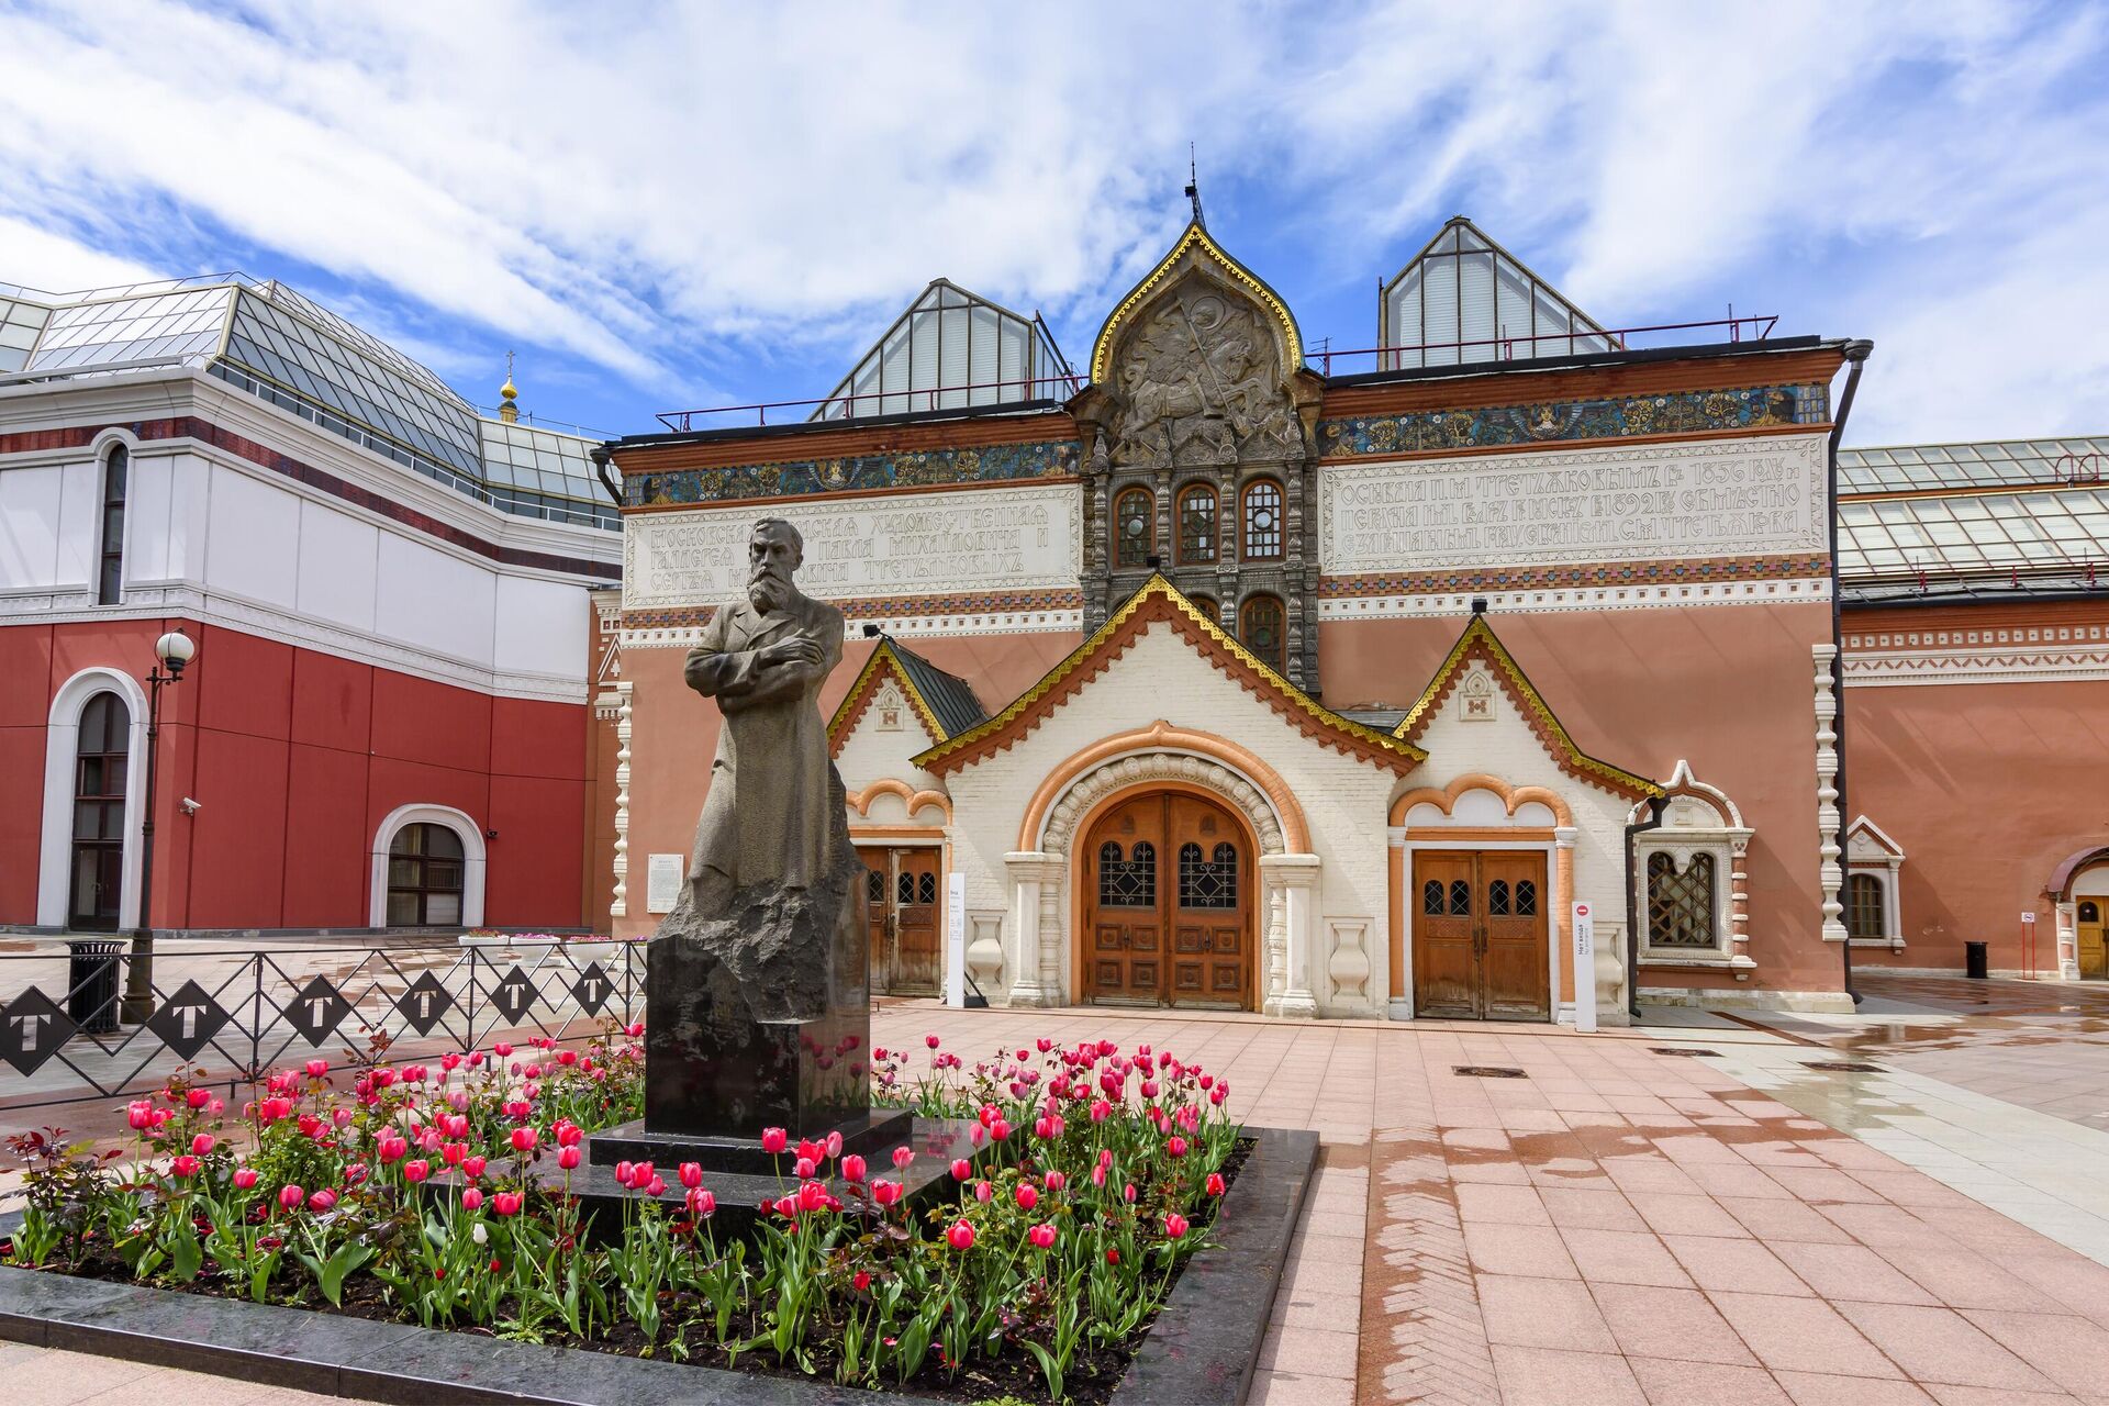
[[[1090,639],[1050,668],[1040,683],[1025,689],[1017,702],[985,723],[932,746],[928,753],[915,757],[915,765],[943,774],[1008,748],[1038,727],[1054,708],[1063,706],[1090,679],[1105,672],[1152,624],[1168,624],[1208,662],[1289,721],[1291,727],[1324,746],[1400,774],[1411,772],[1428,759],[1428,753],[1413,742],[1333,712],[1225,634],[1177,586],[1162,575],[1152,575]]]

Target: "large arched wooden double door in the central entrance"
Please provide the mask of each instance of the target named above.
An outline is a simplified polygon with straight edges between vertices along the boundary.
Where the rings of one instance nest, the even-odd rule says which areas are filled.
[[[1253,841],[1185,793],[1122,801],[1084,843],[1084,995],[1109,1005],[1253,1005]]]

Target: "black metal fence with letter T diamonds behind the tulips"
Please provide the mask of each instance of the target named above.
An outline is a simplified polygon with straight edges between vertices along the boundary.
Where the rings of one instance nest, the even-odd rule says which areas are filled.
[[[143,1024],[116,1018],[133,961],[150,963]],[[186,1067],[234,1088],[314,1054],[378,1065],[584,1039],[643,1018],[643,976],[641,942],[0,953],[0,1109],[133,1094]]]

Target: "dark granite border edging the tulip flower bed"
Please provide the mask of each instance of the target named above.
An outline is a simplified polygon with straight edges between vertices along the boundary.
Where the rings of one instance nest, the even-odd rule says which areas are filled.
[[[1238,1406],[1251,1389],[1289,1242],[1318,1172],[1318,1134],[1249,1136],[1253,1153],[1217,1208],[1211,1244],[1187,1261],[1114,1406]],[[928,1161],[943,1172],[934,1157]],[[0,1235],[15,1223],[19,1214],[0,1216]],[[0,1341],[418,1406],[934,1406],[922,1395],[797,1376],[500,1343],[34,1269],[0,1269]]]

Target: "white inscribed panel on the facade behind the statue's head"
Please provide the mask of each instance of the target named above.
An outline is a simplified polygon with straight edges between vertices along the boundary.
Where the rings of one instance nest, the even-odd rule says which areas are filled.
[[[747,584],[747,535],[780,512],[806,540],[799,590],[823,601],[1076,588],[1084,493],[1073,483],[715,504],[622,523],[622,607],[717,605]]]

